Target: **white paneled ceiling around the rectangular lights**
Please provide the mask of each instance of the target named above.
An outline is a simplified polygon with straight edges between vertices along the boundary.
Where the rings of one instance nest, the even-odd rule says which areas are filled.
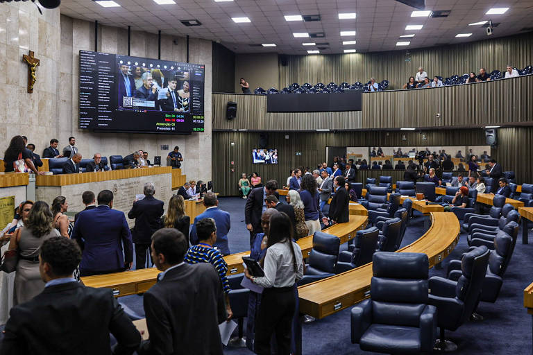
[[[457,44],[487,38],[482,26],[468,24],[491,19],[500,23],[493,37],[519,33],[533,27],[532,0],[426,0],[426,10],[451,10],[446,18],[410,17],[416,10],[394,0],[174,0],[175,4],[158,5],[153,0],[115,0],[118,8],[103,8],[90,0],[62,0],[62,14],[99,24],[168,35],[219,41],[237,53],[305,54],[312,46],[303,42],[329,42],[321,53],[389,51]],[[485,15],[489,8],[509,8],[504,15]],[[356,19],[339,19],[339,12],[356,12]],[[317,15],[321,21],[285,21],[284,15]],[[231,17],[249,17],[250,23],[235,24]],[[202,26],[187,27],[180,20],[197,19]],[[405,31],[408,24],[423,25],[420,31]],[[340,31],[357,31],[355,36],[341,37]],[[325,38],[294,38],[292,33],[325,33]],[[413,38],[399,39],[414,33]],[[458,33],[473,33],[457,38]],[[355,40],[357,44],[343,46]],[[409,46],[396,46],[398,41]],[[276,47],[251,44],[275,43]]]

